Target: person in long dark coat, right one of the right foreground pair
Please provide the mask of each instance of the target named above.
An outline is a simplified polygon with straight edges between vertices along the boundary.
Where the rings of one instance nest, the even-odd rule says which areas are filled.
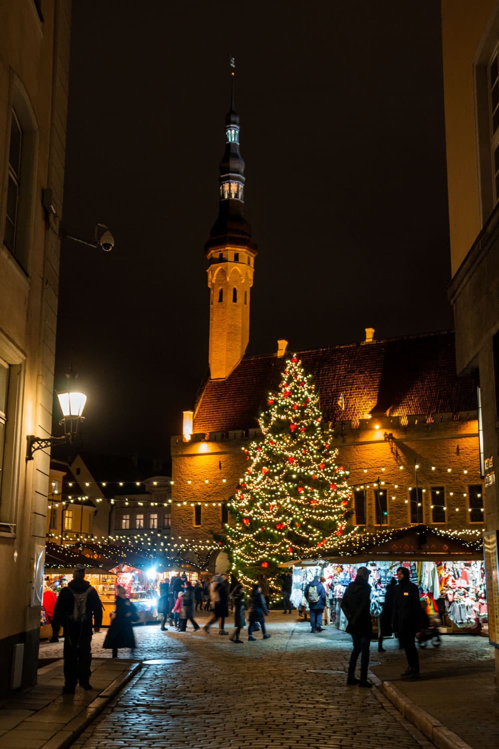
[[[414,639],[420,631],[422,610],[417,585],[409,580],[406,567],[397,569],[399,584],[394,592],[394,632],[398,634],[400,646],[405,650],[407,669],[402,676],[419,676],[419,655]]]

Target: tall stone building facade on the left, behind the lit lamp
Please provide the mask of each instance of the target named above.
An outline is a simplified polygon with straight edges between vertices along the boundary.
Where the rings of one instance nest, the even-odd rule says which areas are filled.
[[[70,0],[1,3],[0,694],[36,682],[60,240]]]

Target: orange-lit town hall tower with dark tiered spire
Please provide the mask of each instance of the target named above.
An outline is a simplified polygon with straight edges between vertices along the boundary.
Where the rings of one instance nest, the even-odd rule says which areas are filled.
[[[234,103],[234,58],[230,58],[230,109],[220,162],[218,216],[204,246],[209,261],[209,371],[227,377],[249,340],[249,295],[257,246],[244,215],[245,163],[239,151],[239,115]]]

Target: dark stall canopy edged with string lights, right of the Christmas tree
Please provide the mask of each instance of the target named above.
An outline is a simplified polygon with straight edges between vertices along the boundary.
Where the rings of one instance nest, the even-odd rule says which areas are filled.
[[[405,560],[443,562],[451,560],[482,560],[483,543],[479,530],[465,533],[435,530],[424,525],[379,530],[346,536],[336,549],[328,549],[321,557],[327,562],[356,564],[362,560]],[[310,565],[314,560],[290,560],[287,565]]]

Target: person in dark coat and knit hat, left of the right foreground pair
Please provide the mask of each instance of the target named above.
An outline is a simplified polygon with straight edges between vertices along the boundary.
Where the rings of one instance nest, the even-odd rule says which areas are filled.
[[[367,567],[359,567],[354,582],[349,584],[341,601],[341,610],[349,622],[346,631],[352,635],[353,643],[346,683],[348,685],[358,684],[359,687],[373,686],[367,681],[369,649],[371,637],[373,637],[369,574]],[[361,678],[355,679],[355,667],[359,655],[361,655]]]

